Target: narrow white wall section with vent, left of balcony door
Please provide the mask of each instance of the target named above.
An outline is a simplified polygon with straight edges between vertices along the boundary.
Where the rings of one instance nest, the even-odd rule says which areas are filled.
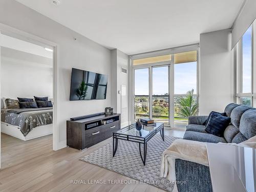
[[[112,106],[116,113],[121,113],[121,127],[129,124],[129,57],[125,53],[111,50],[112,69]],[[121,73],[121,68],[127,70],[127,74]],[[123,90],[121,90],[123,87]],[[119,93],[121,91],[121,93]]]

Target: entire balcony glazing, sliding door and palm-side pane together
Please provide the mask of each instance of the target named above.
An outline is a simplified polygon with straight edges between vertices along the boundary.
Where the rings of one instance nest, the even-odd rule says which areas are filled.
[[[135,119],[184,129],[198,114],[197,50],[133,60]]]

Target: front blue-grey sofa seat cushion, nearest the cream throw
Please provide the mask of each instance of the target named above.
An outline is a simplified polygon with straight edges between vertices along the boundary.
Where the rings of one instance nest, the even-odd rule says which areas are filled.
[[[224,139],[224,137],[218,137],[209,133],[200,133],[194,131],[186,131],[183,139],[209,143],[227,142],[226,139]]]

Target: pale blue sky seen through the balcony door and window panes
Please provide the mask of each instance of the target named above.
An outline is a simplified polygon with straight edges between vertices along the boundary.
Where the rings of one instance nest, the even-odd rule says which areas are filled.
[[[168,93],[168,67],[152,68],[153,95]],[[148,68],[135,70],[135,95],[148,95]],[[175,94],[197,91],[197,62],[174,65]]]

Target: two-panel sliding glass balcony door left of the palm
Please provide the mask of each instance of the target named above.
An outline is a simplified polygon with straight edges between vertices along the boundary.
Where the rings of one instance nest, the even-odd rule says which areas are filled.
[[[134,70],[135,119],[169,124],[169,66]]]

